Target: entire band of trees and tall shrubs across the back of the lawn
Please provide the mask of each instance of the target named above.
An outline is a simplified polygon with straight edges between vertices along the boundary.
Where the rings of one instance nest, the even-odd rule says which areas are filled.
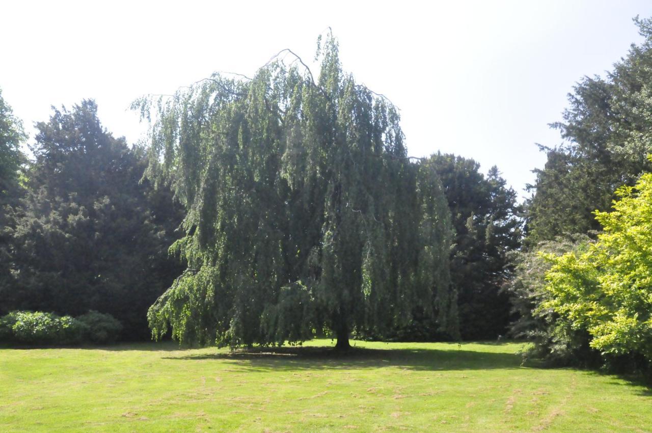
[[[518,203],[496,167],[411,158],[398,110],[342,69],[276,57],[133,108],[128,145],[92,100],[36,125],[0,100],[0,313],[111,314],[188,344],[525,337],[554,363],[649,368],[652,24],[569,95],[565,144]]]

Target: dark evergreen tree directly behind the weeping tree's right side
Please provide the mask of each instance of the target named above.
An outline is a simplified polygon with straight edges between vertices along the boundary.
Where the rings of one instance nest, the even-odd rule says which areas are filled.
[[[451,280],[458,293],[460,334],[465,340],[493,339],[507,333],[511,316],[507,255],[519,248],[520,205],[505,187],[496,167],[485,177],[472,159],[430,157],[439,174],[456,231],[451,252]]]

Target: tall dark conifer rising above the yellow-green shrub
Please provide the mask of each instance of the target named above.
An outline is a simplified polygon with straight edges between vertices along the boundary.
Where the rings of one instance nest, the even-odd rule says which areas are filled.
[[[566,144],[548,152],[536,170],[529,203],[529,245],[563,233],[586,233],[599,225],[593,211],[606,211],[621,185],[633,185],[649,170],[652,152],[652,22],[636,20],[645,40],[632,45],[605,78],[585,77],[569,95],[563,121],[554,124]]]

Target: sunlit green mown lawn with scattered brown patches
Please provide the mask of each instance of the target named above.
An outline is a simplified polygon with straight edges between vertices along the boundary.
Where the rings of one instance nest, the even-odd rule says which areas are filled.
[[[520,344],[0,349],[1,432],[652,431],[652,393]]]

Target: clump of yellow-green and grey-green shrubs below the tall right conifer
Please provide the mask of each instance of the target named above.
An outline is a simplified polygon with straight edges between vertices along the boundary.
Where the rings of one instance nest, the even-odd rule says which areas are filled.
[[[539,244],[514,260],[515,336],[557,364],[604,366],[652,379],[652,173],[596,212],[595,241]]]

